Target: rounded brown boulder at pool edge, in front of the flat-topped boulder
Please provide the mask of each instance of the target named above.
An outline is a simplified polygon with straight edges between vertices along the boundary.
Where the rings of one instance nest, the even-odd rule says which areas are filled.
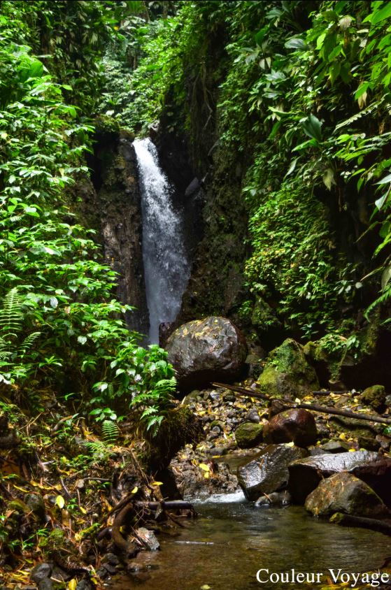
[[[390,515],[374,490],[346,471],[322,480],[307,496],[305,507],[308,512],[320,517],[332,516],[335,512],[367,518]]]

